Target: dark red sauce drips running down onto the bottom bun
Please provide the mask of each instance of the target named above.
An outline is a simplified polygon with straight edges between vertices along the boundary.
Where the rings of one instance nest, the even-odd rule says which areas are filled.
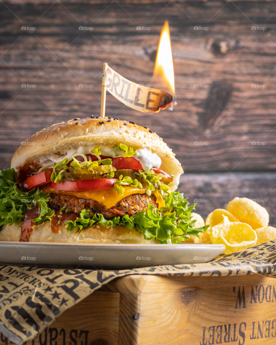
[[[30,208],[24,215],[24,219],[21,223],[21,237],[20,242],[29,242],[30,236],[32,234],[32,226],[34,225],[32,219],[35,219],[40,214],[39,205]],[[59,227],[66,223],[67,220],[76,220],[78,215],[68,212],[63,213],[60,211],[55,211],[55,214],[51,217],[51,227],[52,232],[55,233],[58,231]]]

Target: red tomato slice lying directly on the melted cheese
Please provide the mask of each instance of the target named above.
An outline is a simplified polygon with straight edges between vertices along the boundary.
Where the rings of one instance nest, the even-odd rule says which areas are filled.
[[[108,189],[114,187],[117,178],[93,178],[89,180],[61,181],[58,183],[50,183],[49,187],[58,190],[94,190]]]

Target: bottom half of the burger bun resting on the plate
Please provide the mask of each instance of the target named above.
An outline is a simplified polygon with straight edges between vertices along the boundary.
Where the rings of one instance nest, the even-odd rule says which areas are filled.
[[[21,228],[14,223],[4,225],[0,230],[0,241],[19,242]],[[49,221],[33,226],[29,242],[57,242],[57,243],[97,243],[97,244],[155,244],[155,240],[144,239],[143,234],[136,229],[128,229],[119,225],[115,228],[106,228],[101,224],[87,227],[81,231],[67,231],[64,225],[55,233],[52,232]]]

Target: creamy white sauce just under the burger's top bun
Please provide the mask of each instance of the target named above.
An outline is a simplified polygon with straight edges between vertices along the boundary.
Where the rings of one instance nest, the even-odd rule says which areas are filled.
[[[85,146],[79,146],[78,148],[71,149],[67,152],[67,155],[59,156],[59,155],[49,155],[46,156],[45,159],[41,159],[39,161],[39,164],[41,164],[42,167],[53,164],[54,162],[60,162],[61,160],[72,157],[72,155],[75,155],[76,153],[82,153],[84,155],[88,155],[90,151],[95,147],[95,145],[85,145]],[[149,170],[152,167],[160,168],[161,165],[161,158],[158,157],[155,153],[152,153],[149,149],[142,148],[138,149],[137,154],[133,157],[137,159],[144,170]],[[112,158],[115,157],[122,157],[124,156],[123,151],[118,151],[116,148],[112,146],[101,146],[101,154],[103,156],[109,156]]]

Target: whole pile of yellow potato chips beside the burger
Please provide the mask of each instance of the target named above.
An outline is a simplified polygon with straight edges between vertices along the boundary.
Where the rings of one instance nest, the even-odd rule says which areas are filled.
[[[276,239],[276,228],[268,226],[267,210],[248,198],[234,198],[227,209],[217,208],[204,219],[192,213],[196,227],[209,224],[209,228],[200,233],[200,238],[190,236],[186,242],[224,244],[224,254],[252,247]]]

